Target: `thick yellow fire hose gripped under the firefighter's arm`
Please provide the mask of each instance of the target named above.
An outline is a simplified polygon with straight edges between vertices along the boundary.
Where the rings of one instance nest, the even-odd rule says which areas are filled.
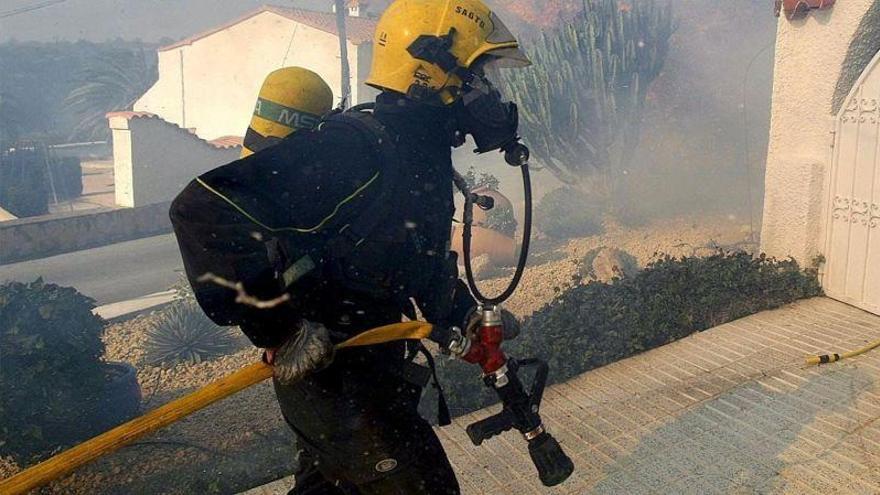
[[[424,339],[433,327],[412,321],[374,328],[358,334],[336,346],[336,349],[381,344],[395,340]],[[95,438],[71,447],[64,452],[31,466],[11,478],[0,481],[0,494],[20,495],[41,487],[50,481],[109,454],[135,440],[179,421],[221,399],[240,392],[272,377],[272,366],[254,363],[214,381],[195,392],[171,401],[161,407],[121,424]]]

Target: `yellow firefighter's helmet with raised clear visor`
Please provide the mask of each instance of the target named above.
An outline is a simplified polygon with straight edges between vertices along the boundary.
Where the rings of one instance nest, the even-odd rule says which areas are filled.
[[[462,69],[474,69],[478,60],[530,64],[480,0],[396,0],[376,26],[366,83],[410,96],[439,94],[449,104],[462,86]]]

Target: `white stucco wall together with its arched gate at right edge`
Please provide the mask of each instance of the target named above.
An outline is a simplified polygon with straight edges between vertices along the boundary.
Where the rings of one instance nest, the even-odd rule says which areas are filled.
[[[822,5],[779,20],[761,247],[880,314],[880,0]]]

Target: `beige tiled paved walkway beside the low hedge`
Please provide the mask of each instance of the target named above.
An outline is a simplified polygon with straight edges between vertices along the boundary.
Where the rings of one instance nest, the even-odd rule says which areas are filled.
[[[555,385],[543,413],[576,466],[555,489],[516,434],[470,444],[486,411],[438,431],[469,495],[880,494],[880,349],[802,364],[878,339],[880,317],[816,298]]]

